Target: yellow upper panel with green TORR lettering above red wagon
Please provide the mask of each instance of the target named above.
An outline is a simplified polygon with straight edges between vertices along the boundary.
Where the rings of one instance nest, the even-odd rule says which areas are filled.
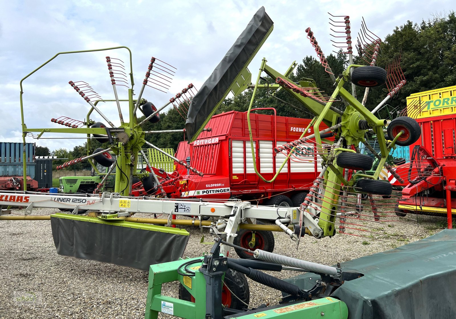
[[[415,119],[456,114],[456,86],[414,93],[407,97],[407,116]]]

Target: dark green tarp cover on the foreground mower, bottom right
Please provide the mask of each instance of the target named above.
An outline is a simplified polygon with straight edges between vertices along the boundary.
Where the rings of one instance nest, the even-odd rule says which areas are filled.
[[[332,294],[347,304],[350,319],[456,318],[454,229],[341,267],[364,274]],[[316,279],[306,273],[286,280],[309,289]]]

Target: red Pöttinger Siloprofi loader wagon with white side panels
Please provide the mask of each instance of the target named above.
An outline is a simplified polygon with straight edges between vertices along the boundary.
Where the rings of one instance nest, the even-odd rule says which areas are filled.
[[[272,109],[275,112],[275,109]],[[301,137],[309,125],[309,119],[286,116],[255,114],[250,115],[254,140],[255,162],[258,171],[268,180],[286,159],[273,150],[287,142]],[[322,125],[319,130],[325,127]],[[305,194],[320,171],[316,158],[315,144],[309,144],[308,162],[291,159],[285,163],[274,182],[262,181],[254,171],[254,162],[249,141],[247,113],[229,111],[212,116],[207,123],[211,132],[202,132],[191,144],[181,142],[176,157],[189,162],[192,167],[204,173],[201,177],[177,165],[181,175],[180,197],[227,199],[237,197],[243,200],[259,199],[266,205],[299,206]],[[313,127],[305,136],[313,134]]]

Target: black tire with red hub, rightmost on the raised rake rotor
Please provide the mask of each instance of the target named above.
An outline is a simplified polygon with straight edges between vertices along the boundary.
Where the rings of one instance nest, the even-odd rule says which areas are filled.
[[[396,140],[396,145],[399,146],[412,145],[418,141],[421,136],[420,124],[409,116],[396,117],[389,123],[387,128],[389,139],[394,140],[394,137],[396,137],[400,131],[404,131],[404,134]]]

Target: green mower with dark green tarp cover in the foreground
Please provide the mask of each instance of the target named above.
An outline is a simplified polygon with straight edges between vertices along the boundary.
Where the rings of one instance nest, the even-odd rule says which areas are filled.
[[[150,266],[145,319],[156,319],[159,312],[185,319],[412,319],[456,315],[456,231],[452,229],[337,267],[259,249],[253,252],[254,260],[226,258],[219,253],[220,243],[203,258]],[[307,273],[279,279],[261,271],[285,269]],[[234,286],[222,280],[230,272],[280,290],[282,300],[277,305],[253,306],[247,299],[246,304],[230,308],[227,302],[233,303],[226,290],[234,291]],[[191,294],[191,300],[161,295],[162,284],[176,280]]]

